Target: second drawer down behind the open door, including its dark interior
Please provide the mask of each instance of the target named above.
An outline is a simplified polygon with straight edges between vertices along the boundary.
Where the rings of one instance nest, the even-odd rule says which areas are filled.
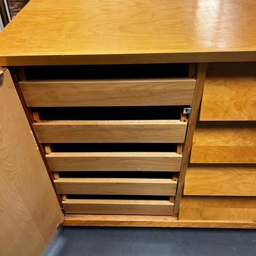
[[[34,127],[42,143],[183,143],[186,135],[187,122],[180,120],[180,107],[127,107],[124,111],[124,107],[106,107],[101,113],[97,107],[58,108],[49,116],[44,108],[38,109],[40,120]],[[157,115],[161,109],[164,112]],[[65,120],[60,120],[63,113]],[[74,116],[79,120],[72,120]]]

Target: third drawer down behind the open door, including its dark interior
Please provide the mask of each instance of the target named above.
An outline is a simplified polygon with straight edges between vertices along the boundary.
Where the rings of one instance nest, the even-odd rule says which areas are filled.
[[[56,143],[46,155],[52,172],[179,172],[182,154],[170,143]]]

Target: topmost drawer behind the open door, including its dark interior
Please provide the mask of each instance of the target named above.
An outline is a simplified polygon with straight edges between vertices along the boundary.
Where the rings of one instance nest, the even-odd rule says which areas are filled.
[[[191,105],[188,64],[24,67],[29,107]]]

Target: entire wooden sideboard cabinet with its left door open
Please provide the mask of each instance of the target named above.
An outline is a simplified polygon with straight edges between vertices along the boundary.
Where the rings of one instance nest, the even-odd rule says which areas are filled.
[[[61,225],[256,228],[255,10],[31,0],[0,33],[0,254]]]

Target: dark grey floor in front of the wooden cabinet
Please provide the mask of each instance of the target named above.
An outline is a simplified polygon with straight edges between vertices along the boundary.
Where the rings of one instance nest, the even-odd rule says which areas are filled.
[[[255,256],[256,230],[62,227],[44,256]]]

